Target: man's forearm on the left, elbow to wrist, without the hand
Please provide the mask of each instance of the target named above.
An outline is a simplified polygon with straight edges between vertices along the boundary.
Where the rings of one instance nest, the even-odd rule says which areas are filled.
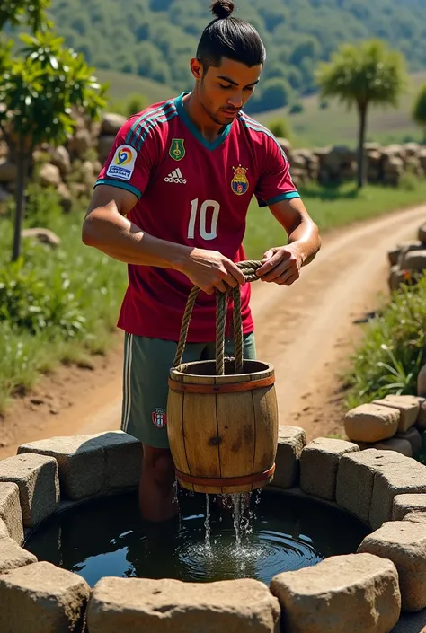
[[[120,214],[100,207],[84,220],[82,239],[113,259],[138,266],[181,268],[190,249],[145,233]]]

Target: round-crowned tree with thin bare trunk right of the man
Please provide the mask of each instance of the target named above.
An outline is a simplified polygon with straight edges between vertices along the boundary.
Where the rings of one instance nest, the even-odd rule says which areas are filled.
[[[359,115],[358,186],[364,186],[364,144],[370,105],[396,106],[405,84],[404,57],[380,40],[345,44],[323,63],[317,80],[323,98],[337,97]]]

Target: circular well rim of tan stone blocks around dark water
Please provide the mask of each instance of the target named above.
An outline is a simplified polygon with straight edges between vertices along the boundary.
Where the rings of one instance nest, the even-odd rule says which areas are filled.
[[[426,625],[426,467],[391,451],[280,426],[271,488],[351,513],[356,554],[275,576],[182,583],[80,576],[22,549],[49,515],[138,485],[141,448],[121,432],[24,444],[0,462],[2,633],[420,633]],[[208,627],[208,628],[207,628]]]

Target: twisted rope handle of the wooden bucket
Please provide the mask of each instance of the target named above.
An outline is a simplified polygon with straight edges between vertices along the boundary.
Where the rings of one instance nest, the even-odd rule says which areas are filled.
[[[248,260],[239,261],[236,266],[244,273],[246,283],[250,283],[259,279],[256,275],[256,270],[262,265],[261,261]],[[183,313],[181,334],[179,337],[179,343],[176,350],[176,356],[174,356],[173,368],[182,364],[183,352],[186,347],[186,341],[188,338],[188,331],[190,329],[190,322],[192,311],[194,309],[197,296],[200,293],[198,286],[193,286],[191,293],[186,303],[185,312]],[[225,327],[226,327],[226,308],[228,298],[232,296],[234,301],[234,337],[235,337],[235,374],[243,373],[243,361],[244,361],[244,341],[243,341],[243,324],[241,315],[241,291],[240,286],[235,288],[228,287],[226,292],[223,293],[220,290],[216,291],[216,374],[225,374]]]

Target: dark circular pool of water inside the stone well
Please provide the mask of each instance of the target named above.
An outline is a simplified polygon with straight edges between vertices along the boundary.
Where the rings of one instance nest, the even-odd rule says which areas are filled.
[[[252,577],[269,585],[281,572],[356,552],[368,534],[337,507],[272,490],[253,493],[245,507],[223,507],[214,496],[207,504],[205,495],[183,491],[179,505],[176,520],[149,524],[140,519],[135,492],[93,499],[50,517],[24,547],[91,586],[103,576],[187,582]]]

